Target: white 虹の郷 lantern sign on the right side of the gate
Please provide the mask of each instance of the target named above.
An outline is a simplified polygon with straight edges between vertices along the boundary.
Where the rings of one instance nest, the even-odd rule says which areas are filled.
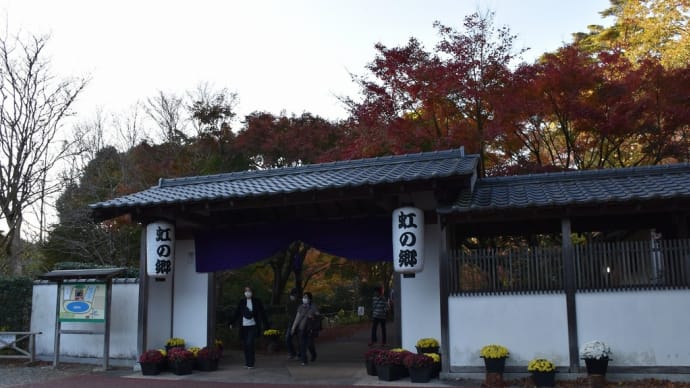
[[[424,212],[406,206],[393,210],[393,267],[395,272],[424,269]]]

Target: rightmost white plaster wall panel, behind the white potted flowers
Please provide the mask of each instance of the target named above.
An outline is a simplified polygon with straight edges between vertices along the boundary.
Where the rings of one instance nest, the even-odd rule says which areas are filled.
[[[576,295],[580,346],[611,346],[609,365],[690,366],[690,290]]]

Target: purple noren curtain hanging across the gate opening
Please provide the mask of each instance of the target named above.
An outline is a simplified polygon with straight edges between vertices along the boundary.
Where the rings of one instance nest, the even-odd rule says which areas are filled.
[[[286,249],[293,241],[354,260],[392,260],[390,218],[275,223],[199,231],[194,237],[197,272],[240,268]]]

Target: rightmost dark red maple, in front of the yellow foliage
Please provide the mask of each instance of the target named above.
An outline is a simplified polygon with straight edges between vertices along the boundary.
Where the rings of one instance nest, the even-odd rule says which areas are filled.
[[[577,44],[520,66],[491,123],[506,156],[493,173],[687,161],[689,74]]]

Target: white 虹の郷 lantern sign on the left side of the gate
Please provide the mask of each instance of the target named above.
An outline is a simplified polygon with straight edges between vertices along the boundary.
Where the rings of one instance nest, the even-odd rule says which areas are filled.
[[[157,221],[146,225],[146,273],[167,277],[173,272],[175,225]]]

